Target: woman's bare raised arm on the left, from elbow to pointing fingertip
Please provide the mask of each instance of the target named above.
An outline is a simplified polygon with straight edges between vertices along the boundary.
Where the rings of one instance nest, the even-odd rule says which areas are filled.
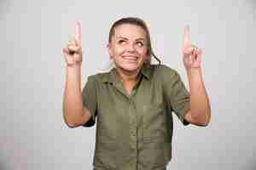
[[[66,60],[66,82],[63,96],[63,118],[68,127],[79,127],[90,120],[90,112],[83,107],[81,91],[81,26],[76,25],[76,36],[63,48]]]

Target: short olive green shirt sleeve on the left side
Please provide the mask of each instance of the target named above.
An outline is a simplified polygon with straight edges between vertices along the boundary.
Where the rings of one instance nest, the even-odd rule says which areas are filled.
[[[91,117],[84,127],[92,127],[96,123],[96,80],[88,77],[82,91],[83,106],[90,111]]]

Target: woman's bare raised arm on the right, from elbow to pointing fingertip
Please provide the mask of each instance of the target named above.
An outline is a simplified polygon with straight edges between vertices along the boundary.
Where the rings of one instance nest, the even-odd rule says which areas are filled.
[[[211,107],[202,78],[201,49],[190,43],[189,26],[184,28],[182,51],[190,92],[190,109],[184,119],[197,126],[207,126],[211,118]]]

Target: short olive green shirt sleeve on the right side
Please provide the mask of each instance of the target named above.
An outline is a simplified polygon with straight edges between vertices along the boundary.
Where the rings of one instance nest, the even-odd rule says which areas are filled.
[[[168,103],[183,125],[189,125],[189,122],[184,119],[185,114],[189,111],[189,92],[177,71],[171,68],[168,70],[164,77]]]

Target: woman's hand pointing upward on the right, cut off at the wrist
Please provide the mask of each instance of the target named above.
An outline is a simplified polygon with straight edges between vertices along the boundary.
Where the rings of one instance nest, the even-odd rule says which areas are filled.
[[[183,63],[187,70],[201,67],[201,49],[191,44],[189,40],[189,26],[183,30]]]

